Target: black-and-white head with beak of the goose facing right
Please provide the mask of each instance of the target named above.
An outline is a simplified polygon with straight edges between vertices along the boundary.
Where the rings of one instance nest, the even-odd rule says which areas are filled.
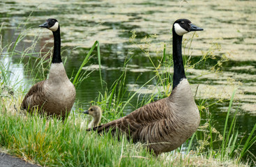
[[[190,31],[204,30],[192,24],[189,19],[177,19],[174,22],[172,29],[174,29],[174,32],[180,36],[184,35],[185,33],[189,33]]]

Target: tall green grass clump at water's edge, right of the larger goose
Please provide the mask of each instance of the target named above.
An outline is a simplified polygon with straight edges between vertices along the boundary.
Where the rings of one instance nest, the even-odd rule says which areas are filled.
[[[226,161],[232,158],[236,163],[239,163],[248,158],[247,161],[252,161],[253,163],[253,161],[255,161],[255,155],[248,150],[256,142],[256,137],[252,138],[255,133],[256,124],[251,132],[248,132],[249,135],[239,137],[239,132],[236,127],[236,113],[238,109],[236,109],[234,113],[230,113],[235,93],[236,89],[232,93],[231,100],[229,101],[223,134],[220,134],[220,132],[213,127],[211,114],[209,113],[206,118],[206,123],[204,123],[201,128],[199,127],[200,131],[195,133],[199,143],[197,151],[202,152],[206,157],[214,157],[220,159],[220,161]],[[229,119],[231,119],[231,123],[228,123]],[[243,142],[243,140],[246,142]],[[216,144],[218,145],[217,147]],[[248,151],[248,157],[245,156],[245,150]]]

